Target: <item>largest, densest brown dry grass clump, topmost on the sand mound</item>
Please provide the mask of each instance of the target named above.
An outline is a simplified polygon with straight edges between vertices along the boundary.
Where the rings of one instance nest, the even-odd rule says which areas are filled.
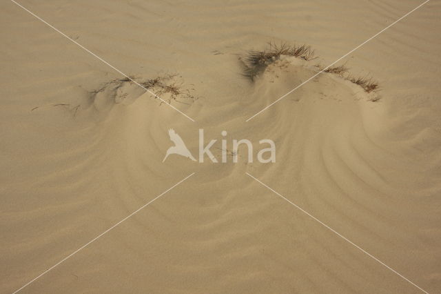
[[[291,46],[287,43],[281,43],[280,45],[269,43],[269,48],[266,50],[249,50],[247,56],[240,59],[243,62],[243,75],[254,81],[254,78],[263,72],[269,64],[278,60],[280,55],[293,56],[305,60],[316,58],[314,57],[314,50],[311,49],[311,46]]]

